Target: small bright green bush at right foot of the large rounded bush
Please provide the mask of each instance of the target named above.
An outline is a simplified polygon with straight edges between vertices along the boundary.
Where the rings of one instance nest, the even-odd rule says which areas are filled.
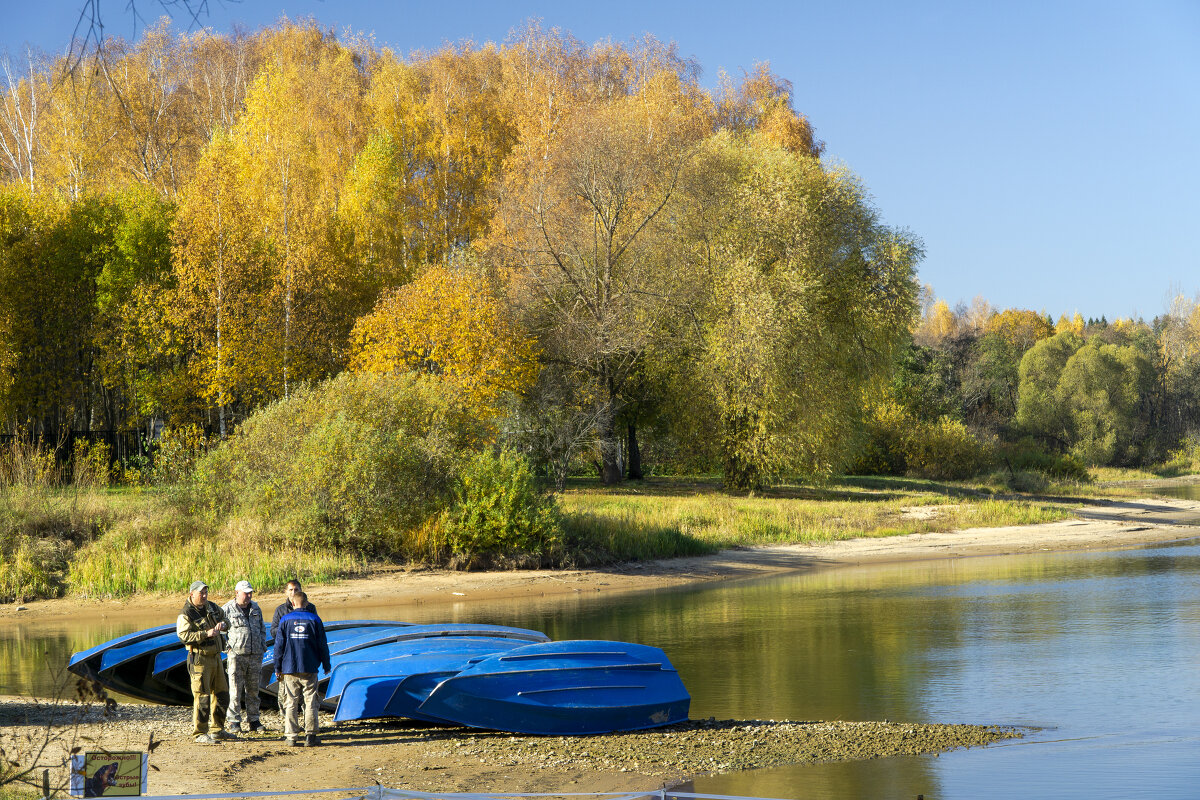
[[[553,498],[538,491],[529,462],[511,450],[475,456],[462,470],[443,516],[451,564],[542,566],[562,555]]]

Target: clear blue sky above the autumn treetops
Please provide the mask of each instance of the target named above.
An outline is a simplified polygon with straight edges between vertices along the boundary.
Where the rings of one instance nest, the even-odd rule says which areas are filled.
[[[108,35],[140,30],[128,0],[97,1]],[[2,0],[0,48],[61,50],[84,2]],[[1195,0],[208,5],[218,31],[313,17],[402,53],[500,42],[530,17],[586,42],[650,32],[694,56],[708,85],[769,61],[826,157],[925,242],[920,281],[952,305],[980,295],[1055,318],[1150,320],[1171,294],[1200,291]]]

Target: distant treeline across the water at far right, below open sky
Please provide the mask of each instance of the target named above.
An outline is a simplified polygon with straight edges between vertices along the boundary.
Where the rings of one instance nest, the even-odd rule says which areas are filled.
[[[869,417],[874,446],[859,455],[862,471],[934,474],[955,458],[1064,474],[1171,459],[1194,469],[1200,306],[1178,296],[1153,323],[1078,313],[1056,323],[982,299],[954,311],[926,302],[892,389]],[[918,447],[907,462],[906,440],[923,435],[914,431],[944,452],[924,463]]]

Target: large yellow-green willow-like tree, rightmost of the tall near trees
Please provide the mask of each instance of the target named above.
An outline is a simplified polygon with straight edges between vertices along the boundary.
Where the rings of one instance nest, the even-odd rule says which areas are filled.
[[[721,181],[698,204],[713,276],[698,367],[726,483],[828,473],[908,330],[920,247],[811,156],[726,136],[703,169]]]

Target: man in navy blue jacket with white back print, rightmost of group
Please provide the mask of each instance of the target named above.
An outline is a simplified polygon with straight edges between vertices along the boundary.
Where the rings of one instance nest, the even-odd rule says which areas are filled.
[[[326,675],[334,669],[329,661],[325,625],[306,608],[307,604],[305,593],[292,595],[292,610],[280,619],[275,637],[275,674],[288,693],[283,709],[283,739],[293,747],[300,744],[296,738],[300,735],[298,711],[301,697],[305,745],[316,747],[320,744],[317,739],[317,708],[320,705],[317,668],[324,667]]]

